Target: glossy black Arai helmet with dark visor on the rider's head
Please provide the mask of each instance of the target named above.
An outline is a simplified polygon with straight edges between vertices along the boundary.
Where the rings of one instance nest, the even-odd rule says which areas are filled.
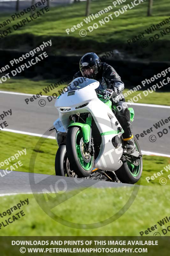
[[[100,68],[101,60],[94,52],[86,53],[80,60],[80,71],[84,77],[93,78]]]

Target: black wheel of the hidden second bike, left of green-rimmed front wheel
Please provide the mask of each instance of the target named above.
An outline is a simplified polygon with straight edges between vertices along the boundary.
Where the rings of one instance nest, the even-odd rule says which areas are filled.
[[[76,173],[70,168],[65,145],[61,145],[57,150],[55,156],[55,175],[77,178]]]

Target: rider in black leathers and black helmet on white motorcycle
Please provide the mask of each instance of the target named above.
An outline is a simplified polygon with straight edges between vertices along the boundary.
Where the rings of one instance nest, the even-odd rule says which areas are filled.
[[[121,81],[121,77],[112,66],[101,62],[100,58],[94,52],[86,53],[81,58],[80,71],[74,75],[73,79],[82,76],[99,81],[100,85],[98,89],[104,90],[108,99],[113,99],[116,106],[115,116],[124,130],[122,137],[126,143],[127,153],[134,153],[136,147],[130,121],[130,111],[122,94],[124,84]]]

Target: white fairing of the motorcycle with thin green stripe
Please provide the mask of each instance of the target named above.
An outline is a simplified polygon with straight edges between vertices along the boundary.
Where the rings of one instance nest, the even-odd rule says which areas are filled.
[[[78,78],[73,82],[77,80]],[[55,108],[59,112],[59,119],[63,125],[62,131],[63,129],[68,131],[69,116],[77,113],[90,113],[102,138],[100,153],[94,162],[94,167],[106,171],[116,171],[122,166],[120,158],[123,148],[122,144],[119,148],[115,148],[112,139],[115,136],[121,137],[124,131],[112,110],[97,97],[95,89],[99,87],[99,82],[93,79],[87,80],[90,84],[80,89],[74,90],[74,87],[69,92],[63,92],[55,101]]]

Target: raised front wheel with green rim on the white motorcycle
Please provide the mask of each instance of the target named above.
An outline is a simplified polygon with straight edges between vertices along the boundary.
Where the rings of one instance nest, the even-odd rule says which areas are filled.
[[[67,156],[72,168],[79,177],[87,177],[92,173],[94,156],[85,149],[83,132],[79,127],[70,127],[66,140]]]

